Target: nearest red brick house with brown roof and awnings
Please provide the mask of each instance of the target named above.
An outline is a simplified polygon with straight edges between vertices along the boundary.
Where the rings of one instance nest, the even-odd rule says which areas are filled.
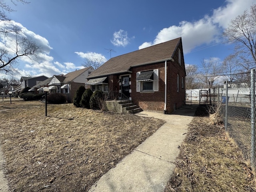
[[[93,91],[118,94],[143,110],[171,113],[186,100],[182,39],[111,58],[88,77]]]

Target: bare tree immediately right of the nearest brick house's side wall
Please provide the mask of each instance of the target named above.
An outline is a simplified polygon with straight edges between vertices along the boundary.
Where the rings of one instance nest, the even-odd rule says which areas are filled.
[[[198,81],[196,78],[197,66],[196,65],[185,65],[186,68],[186,89],[196,89],[198,88]]]

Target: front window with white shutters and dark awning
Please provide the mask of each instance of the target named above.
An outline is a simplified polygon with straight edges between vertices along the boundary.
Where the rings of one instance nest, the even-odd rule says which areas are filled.
[[[137,92],[158,91],[158,69],[136,73]]]

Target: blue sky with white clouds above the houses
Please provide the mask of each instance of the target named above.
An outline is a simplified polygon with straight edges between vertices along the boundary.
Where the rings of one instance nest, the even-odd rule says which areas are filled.
[[[182,37],[186,64],[220,62],[232,53],[223,30],[256,0],[30,0],[8,13],[41,47],[38,62],[19,61],[17,76],[52,76],[83,68],[85,58],[126,54]],[[8,77],[0,74],[0,78]]]

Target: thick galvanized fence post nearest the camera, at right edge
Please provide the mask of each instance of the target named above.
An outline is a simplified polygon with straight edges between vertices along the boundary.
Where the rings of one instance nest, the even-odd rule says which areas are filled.
[[[255,169],[255,69],[251,70],[251,166]]]

